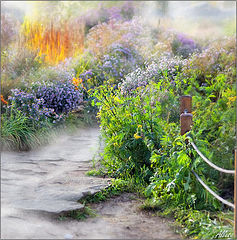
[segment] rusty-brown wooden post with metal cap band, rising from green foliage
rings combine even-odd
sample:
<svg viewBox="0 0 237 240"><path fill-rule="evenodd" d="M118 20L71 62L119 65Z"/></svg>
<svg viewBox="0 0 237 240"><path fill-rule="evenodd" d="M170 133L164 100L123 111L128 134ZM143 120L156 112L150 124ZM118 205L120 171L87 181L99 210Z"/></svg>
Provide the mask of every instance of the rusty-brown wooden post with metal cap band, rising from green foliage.
<svg viewBox="0 0 237 240"><path fill-rule="evenodd" d="M191 130L193 115L192 112L192 97L181 96L180 97L180 125L181 135Z"/></svg>

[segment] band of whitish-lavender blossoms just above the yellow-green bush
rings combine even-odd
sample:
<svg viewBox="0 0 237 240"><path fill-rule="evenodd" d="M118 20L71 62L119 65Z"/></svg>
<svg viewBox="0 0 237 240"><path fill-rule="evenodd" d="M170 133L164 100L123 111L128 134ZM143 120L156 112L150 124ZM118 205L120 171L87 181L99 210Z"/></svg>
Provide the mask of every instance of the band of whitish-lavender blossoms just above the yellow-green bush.
<svg viewBox="0 0 237 240"><path fill-rule="evenodd" d="M121 91L128 93L138 87L148 85L151 81L158 82L165 77L173 81L181 71L187 60L169 55L162 55L160 58L146 64L145 69L138 68L129 73L120 84Z"/></svg>

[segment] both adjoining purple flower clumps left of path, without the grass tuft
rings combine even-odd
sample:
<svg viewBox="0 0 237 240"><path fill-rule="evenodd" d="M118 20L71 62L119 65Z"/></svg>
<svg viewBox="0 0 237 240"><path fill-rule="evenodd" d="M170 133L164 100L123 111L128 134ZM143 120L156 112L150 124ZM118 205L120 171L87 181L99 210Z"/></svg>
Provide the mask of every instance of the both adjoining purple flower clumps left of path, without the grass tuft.
<svg viewBox="0 0 237 240"><path fill-rule="evenodd" d="M29 117L34 124L56 123L64 120L67 114L83 102L83 93L70 81L38 82L32 85L31 92L11 90L9 108L17 109Z"/></svg>

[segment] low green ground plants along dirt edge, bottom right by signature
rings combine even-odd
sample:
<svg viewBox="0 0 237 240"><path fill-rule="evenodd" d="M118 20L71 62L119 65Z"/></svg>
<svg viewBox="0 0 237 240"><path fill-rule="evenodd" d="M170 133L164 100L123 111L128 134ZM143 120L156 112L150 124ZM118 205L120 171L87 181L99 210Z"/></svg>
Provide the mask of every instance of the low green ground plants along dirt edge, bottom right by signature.
<svg viewBox="0 0 237 240"><path fill-rule="evenodd" d="M161 217L172 217L175 229L184 238L230 239L233 238L233 213L210 212L186 209L182 206L168 206L159 199L146 199L140 206L143 211L152 211Z"/></svg>

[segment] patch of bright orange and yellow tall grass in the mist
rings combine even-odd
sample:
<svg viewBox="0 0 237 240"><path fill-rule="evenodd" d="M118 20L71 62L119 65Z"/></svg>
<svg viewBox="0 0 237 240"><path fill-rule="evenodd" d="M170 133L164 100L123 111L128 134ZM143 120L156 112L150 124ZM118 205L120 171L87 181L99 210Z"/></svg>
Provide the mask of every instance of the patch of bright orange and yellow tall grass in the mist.
<svg viewBox="0 0 237 240"><path fill-rule="evenodd" d="M22 41L31 50L38 50L39 56L45 55L45 61L57 64L75 52L84 49L84 23L64 21L42 24L25 19L22 25Z"/></svg>

